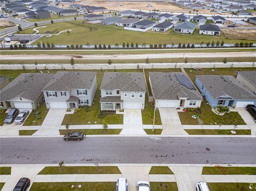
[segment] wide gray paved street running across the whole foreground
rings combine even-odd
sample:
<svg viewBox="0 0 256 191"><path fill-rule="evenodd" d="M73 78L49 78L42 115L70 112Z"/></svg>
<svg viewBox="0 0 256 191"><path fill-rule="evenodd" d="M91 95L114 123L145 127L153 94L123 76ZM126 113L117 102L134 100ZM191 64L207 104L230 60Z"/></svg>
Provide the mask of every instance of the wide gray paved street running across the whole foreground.
<svg viewBox="0 0 256 191"><path fill-rule="evenodd" d="M95 159L99 163L256 163L256 138L87 137L81 142L1 138L0 143L2 164L94 163Z"/></svg>

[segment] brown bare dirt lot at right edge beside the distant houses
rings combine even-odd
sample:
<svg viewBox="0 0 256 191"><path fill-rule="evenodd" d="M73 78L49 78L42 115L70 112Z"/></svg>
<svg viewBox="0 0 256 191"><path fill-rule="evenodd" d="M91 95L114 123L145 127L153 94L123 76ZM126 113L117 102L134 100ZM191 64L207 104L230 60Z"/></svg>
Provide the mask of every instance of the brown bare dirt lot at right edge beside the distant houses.
<svg viewBox="0 0 256 191"><path fill-rule="evenodd" d="M221 32L229 39L256 40L256 29L221 29Z"/></svg>

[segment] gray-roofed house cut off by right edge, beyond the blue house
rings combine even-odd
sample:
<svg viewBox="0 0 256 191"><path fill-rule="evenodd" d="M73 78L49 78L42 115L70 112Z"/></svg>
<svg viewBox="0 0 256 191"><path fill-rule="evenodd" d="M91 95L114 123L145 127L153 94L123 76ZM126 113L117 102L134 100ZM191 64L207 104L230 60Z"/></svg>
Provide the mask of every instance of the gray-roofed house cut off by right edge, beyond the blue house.
<svg viewBox="0 0 256 191"><path fill-rule="evenodd" d="M256 95L256 71L238 71L236 79Z"/></svg>

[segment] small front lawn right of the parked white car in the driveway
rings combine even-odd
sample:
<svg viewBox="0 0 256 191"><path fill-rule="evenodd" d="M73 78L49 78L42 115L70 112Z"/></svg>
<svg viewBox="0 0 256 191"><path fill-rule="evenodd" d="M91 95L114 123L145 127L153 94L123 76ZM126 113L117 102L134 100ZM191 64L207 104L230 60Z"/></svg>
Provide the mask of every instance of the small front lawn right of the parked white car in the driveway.
<svg viewBox="0 0 256 191"><path fill-rule="evenodd" d="M37 119L35 116L35 112L40 111L40 117L41 119ZM23 126L41 126L41 124L44 122L44 119L47 115L49 110L46 109L45 103L42 103L40 107L37 107L36 110L33 110L29 115L28 119L23 123Z"/></svg>

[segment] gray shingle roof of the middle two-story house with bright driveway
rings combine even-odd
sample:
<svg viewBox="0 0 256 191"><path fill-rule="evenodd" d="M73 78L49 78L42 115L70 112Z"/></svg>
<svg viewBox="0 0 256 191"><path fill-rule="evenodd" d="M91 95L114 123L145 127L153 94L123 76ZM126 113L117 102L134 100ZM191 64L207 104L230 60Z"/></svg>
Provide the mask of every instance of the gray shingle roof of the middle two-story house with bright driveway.
<svg viewBox="0 0 256 191"><path fill-rule="evenodd" d="M105 72L100 89L122 92L147 92L142 72Z"/></svg>

